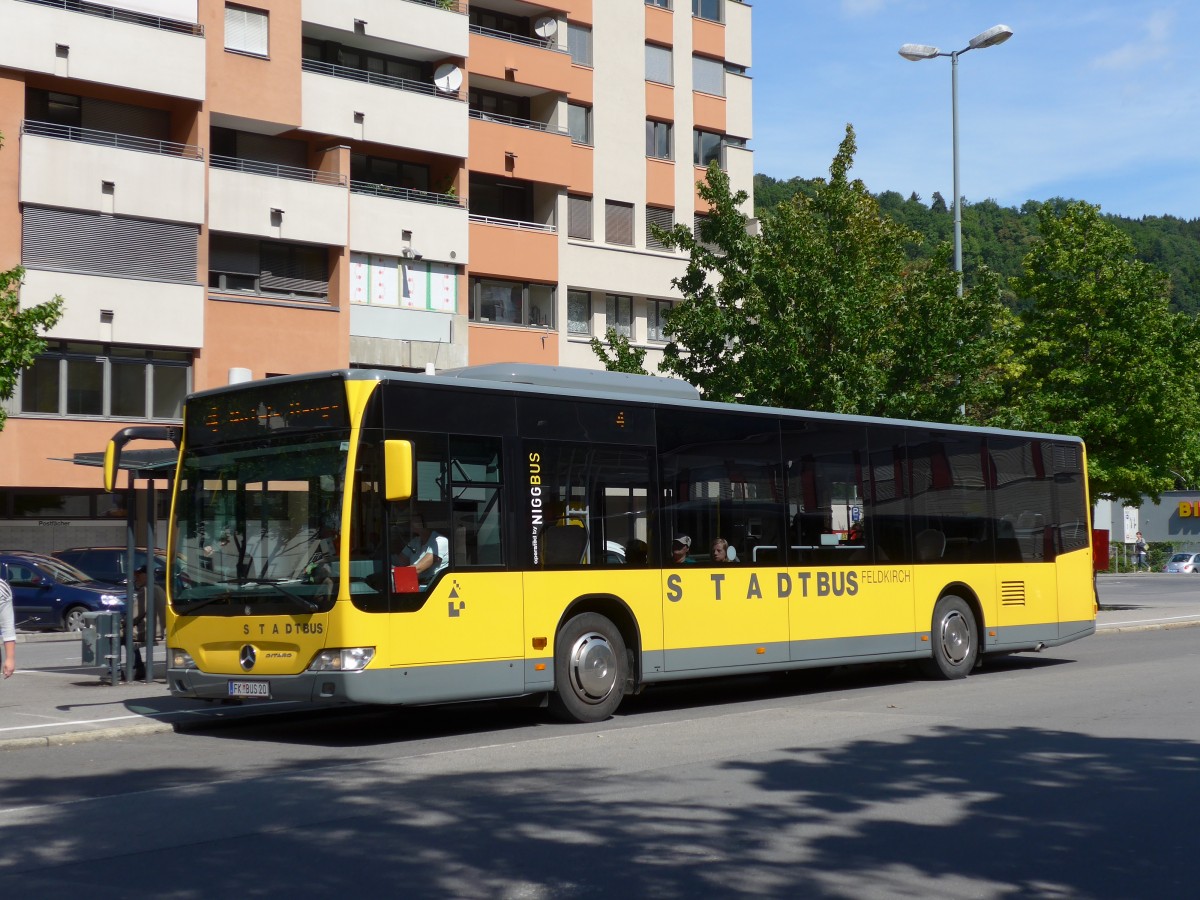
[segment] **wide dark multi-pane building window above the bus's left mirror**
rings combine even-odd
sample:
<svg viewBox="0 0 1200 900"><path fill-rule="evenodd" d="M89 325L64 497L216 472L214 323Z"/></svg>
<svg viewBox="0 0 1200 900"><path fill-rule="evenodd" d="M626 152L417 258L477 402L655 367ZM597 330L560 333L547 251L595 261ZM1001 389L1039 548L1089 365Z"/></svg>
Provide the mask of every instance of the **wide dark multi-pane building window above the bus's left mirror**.
<svg viewBox="0 0 1200 900"><path fill-rule="evenodd" d="M20 412L110 419L181 419L192 354L52 341L20 376Z"/></svg>

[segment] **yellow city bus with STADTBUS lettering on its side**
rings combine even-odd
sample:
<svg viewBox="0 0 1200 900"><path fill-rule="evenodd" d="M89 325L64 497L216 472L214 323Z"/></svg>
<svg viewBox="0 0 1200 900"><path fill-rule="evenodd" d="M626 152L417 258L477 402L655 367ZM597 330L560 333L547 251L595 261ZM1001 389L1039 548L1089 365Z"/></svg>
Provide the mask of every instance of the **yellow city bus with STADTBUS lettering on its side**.
<svg viewBox="0 0 1200 900"><path fill-rule="evenodd" d="M545 366L271 378L187 398L167 679L208 700L540 695L599 721L676 679L959 678L1093 634L1090 541L1072 437Z"/></svg>

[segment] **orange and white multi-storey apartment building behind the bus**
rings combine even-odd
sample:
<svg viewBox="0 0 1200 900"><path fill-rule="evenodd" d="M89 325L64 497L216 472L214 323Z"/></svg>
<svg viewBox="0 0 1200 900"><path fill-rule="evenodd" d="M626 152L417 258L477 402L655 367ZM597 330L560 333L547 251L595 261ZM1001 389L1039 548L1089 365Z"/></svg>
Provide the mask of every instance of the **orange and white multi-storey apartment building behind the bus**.
<svg viewBox="0 0 1200 900"><path fill-rule="evenodd" d="M752 188L750 13L0 0L0 269L65 299L6 407L0 545L114 540L65 460L230 378L598 367L608 326L656 366L684 263L650 224L694 223L710 160Z"/></svg>

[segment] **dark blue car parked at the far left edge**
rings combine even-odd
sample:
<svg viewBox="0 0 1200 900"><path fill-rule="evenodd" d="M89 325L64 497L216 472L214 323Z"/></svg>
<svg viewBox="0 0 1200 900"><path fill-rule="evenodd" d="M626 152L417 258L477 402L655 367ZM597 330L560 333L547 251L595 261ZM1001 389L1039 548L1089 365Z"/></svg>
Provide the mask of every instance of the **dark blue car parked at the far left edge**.
<svg viewBox="0 0 1200 900"><path fill-rule="evenodd" d="M92 581L54 557L0 552L0 576L12 588L18 628L79 631L85 612L125 611L119 589Z"/></svg>

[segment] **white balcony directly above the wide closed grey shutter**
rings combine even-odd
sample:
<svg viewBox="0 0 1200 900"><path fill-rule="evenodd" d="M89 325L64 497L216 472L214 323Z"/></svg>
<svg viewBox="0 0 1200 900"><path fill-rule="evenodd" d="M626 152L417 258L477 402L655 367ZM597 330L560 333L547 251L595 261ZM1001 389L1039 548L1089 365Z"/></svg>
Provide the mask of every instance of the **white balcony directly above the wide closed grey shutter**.
<svg viewBox="0 0 1200 900"><path fill-rule="evenodd" d="M25 121L19 197L41 206L198 224L203 160L191 144Z"/></svg>

